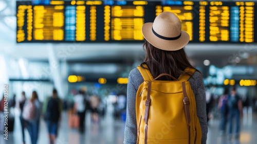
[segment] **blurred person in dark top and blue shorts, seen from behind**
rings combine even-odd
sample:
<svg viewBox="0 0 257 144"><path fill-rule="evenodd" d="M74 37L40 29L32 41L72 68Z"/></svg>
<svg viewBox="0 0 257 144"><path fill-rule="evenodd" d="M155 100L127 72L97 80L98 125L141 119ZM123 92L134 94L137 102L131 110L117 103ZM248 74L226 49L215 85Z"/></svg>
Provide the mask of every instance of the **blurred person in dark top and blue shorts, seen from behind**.
<svg viewBox="0 0 257 144"><path fill-rule="evenodd" d="M58 97L56 89L53 89L52 96L46 98L44 102L44 117L48 129L49 143L54 144L62 117L62 101Z"/></svg>

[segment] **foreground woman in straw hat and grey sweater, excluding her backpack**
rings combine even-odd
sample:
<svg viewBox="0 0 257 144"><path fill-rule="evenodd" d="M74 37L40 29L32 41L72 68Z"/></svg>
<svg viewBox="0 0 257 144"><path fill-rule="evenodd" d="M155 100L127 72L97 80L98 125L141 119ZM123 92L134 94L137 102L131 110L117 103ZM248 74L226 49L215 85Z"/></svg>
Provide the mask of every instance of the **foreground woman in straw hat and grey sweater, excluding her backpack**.
<svg viewBox="0 0 257 144"><path fill-rule="evenodd" d="M146 64L154 78L167 73L178 79L186 67L193 66L189 63L184 47L189 42L187 32L181 30L178 17L171 12L162 12L154 23L145 23L142 33L146 39L144 43L146 56L142 64ZM142 64L140 65L141 67ZM170 77L161 77L159 80L172 80ZM127 83L127 110L125 123L125 144L137 142L136 121L136 94L138 87L144 79L137 68L133 69L128 76ZM197 117L200 122L202 138L205 144L207 139L207 115L205 85L203 77L198 70L189 79L196 101Z"/></svg>

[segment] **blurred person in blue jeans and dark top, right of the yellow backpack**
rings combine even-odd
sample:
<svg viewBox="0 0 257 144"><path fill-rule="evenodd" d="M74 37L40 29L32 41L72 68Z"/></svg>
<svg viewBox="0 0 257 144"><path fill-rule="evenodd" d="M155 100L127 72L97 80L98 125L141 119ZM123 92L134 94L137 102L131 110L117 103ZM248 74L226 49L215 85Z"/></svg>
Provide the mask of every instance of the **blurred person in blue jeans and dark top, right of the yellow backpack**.
<svg viewBox="0 0 257 144"><path fill-rule="evenodd" d="M243 117L243 106L241 98L236 94L236 88L233 87L230 95L228 95L229 107L229 135L232 138L233 119L235 119L235 138L239 137L240 117Z"/></svg>

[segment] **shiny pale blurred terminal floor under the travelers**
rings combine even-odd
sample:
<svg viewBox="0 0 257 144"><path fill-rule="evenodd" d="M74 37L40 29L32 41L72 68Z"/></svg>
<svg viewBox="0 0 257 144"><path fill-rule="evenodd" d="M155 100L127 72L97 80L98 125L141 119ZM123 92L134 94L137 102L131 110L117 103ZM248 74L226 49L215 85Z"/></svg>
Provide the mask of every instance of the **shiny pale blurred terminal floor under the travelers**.
<svg viewBox="0 0 257 144"><path fill-rule="evenodd" d="M30 144L28 131L25 131L26 143ZM67 115L63 115L59 136L56 144L122 144L124 138L124 122L113 120L112 117L101 119L99 125L90 121L90 114L86 115L86 132L79 134L75 129L68 128ZM22 132L19 117L15 117L14 132L9 133L8 140L0 136L1 144L22 144ZM38 144L48 144L47 129L44 120L41 120ZM218 121L210 120L207 144L237 144L257 143L257 116L252 120L241 121L240 138L228 140L227 135L220 136Z"/></svg>

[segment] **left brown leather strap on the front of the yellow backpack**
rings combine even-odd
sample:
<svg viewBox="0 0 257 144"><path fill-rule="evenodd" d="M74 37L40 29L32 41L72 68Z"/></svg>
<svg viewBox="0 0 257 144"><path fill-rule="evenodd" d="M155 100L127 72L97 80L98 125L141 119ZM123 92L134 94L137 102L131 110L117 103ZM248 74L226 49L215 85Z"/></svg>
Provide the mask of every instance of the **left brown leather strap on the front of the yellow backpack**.
<svg viewBox="0 0 257 144"><path fill-rule="evenodd" d="M152 81L149 81L148 89L147 89L147 98L145 100L145 110L144 110L144 122L145 122L144 144L147 144L147 139L148 139L147 130L148 130L148 117L149 117L150 104L151 104L151 99L150 99L151 86L152 86Z"/></svg>

